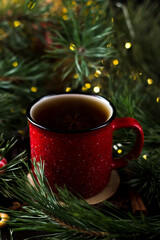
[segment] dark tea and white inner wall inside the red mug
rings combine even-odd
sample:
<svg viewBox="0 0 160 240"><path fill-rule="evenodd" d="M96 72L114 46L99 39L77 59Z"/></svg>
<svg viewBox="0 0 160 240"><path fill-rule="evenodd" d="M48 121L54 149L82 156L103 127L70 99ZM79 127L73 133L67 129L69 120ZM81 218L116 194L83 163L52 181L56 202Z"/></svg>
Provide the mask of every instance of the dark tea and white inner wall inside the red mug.
<svg viewBox="0 0 160 240"><path fill-rule="evenodd" d="M45 97L31 108L31 117L36 123L60 132L98 127L110 115L109 108L102 100L79 94Z"/></svg>

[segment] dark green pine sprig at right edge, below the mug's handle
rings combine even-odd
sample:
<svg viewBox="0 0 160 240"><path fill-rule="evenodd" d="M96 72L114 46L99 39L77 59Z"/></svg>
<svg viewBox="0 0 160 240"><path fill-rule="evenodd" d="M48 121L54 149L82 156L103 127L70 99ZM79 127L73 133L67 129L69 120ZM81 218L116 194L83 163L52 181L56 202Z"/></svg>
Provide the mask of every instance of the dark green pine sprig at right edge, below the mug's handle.
<svg viewBox="0 0 160 240"><path fill-rule="evenodd" d="M127 171L131 176L129 184L140 192L147 206L160 208L160 152L150 152L145 158L129 162Z"/></svg>

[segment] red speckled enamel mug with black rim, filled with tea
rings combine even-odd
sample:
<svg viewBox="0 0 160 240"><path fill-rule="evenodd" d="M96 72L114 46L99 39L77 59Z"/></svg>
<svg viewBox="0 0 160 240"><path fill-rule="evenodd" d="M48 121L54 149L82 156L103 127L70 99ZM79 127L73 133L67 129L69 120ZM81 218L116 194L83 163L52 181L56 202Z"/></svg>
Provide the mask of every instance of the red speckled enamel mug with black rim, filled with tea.
<svg viewBox="0 0 160 240"><path fill-rule="evenodd" d="M78 106L76 102L84 104L82 109L87 108L85 114L88 115L90 115L88 102L92 102L93 110L98 104L94 116L99 116L96 111L102 107L106 119L103 121L100 119L100 122L93 123L93 126L87 125L82 129L65 129L65 126L61 129L61 124L56 128L54 119L67 104L68 99L71 99L71 105L74 103ZM51 118L52 103L59 100L63 100L63 107L59 105L59 110L54 110L53 119L48 127L45 121ZM49 110L48 115L44 114L45 109ZM92 197L107 185L113 169L125 167L128 160L139 156L144 141L142 127L134 118L115 118L115 115L114 105L97 95L74 93L48 95L36 99L28 106L31 159L36 159L36 162L40 159L44 161L45 175L53 192L57 192L56 186L65 185L70 191L77 192L84 198ZM44 119L41 122L42 118ZM60 121L61 119L58 120ZM74 123L76 121L75 118ZM113 132L120 128L134 129L137 138L133 149L127 155L114 159Z"/></svg>

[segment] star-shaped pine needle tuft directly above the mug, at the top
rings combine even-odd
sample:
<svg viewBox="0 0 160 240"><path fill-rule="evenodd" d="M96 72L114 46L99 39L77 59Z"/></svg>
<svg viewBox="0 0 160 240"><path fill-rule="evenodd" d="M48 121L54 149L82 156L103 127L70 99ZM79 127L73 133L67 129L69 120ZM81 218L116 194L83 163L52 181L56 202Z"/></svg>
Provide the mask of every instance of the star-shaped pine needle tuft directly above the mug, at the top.
<svg viewBox="0 0 160 240"><path fill-rule="evenodd" d="M107 44L113 41L113 30L101 2L87 5L80 1L73 6L72 1L63 1L63 4L67 13L58 18L58 30L51 29L52 44L47 56L58 59L54 70L59 74L60 69L61 80L69 77L70 84L77 88L96 72L103 58L113 56L113 49L107 49Z"/></svg>

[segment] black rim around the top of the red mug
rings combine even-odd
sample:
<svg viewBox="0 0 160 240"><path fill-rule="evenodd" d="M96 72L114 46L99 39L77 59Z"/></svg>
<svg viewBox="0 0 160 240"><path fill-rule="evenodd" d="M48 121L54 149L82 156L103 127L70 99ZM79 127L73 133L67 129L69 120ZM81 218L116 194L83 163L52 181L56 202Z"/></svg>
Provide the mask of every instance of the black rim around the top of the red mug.
<svg viewBox="0 0 160 240"><path fill-rule="evenodd" d="M42 126L41 124L37 123L32 117L31 117L31 114L30 114L30 111L31 111L31 108L37 103L39 102L41 99L43 98L46 98L46 97L51 97L51 96L58 96L58 95L72 95L72 94L75 94L75 95L85 95L85 96L92 96L92 97L97 97L97 98L100 98L100 99L103 99L105 101L107 101L113 112L112 112L112 115L111 117L106 120L105 122L99 124L98 126L96 127L93 127L93 128L89 128L89 129L84 129L84 130L63 130L63 131L60 131L60 130L56 130L56 129L53 129L53 128L47 128L47 127L44 127ZM73 133L83 133L83 132L91 132L91 131L95 131L95 130L98 130L98 129L101 129L105 126L107 126L108 124L110 124L116 117L116 108L115 106L113 105L113 103L108 100L107 98L104 98L100 95L97 95L97 94L86 94L86 93L58 93L58 94L46 94L46 95L43 95L39 98L36 98L35 100L33 100L28 106L27 106L27 109L26 109L26 117L28 119L28 121L30 123L32 123L34 126L40 128L40 129L43 129L43 130L46 130L46 131L49 131L49 132L53 132L53 133L64 133L64 134L73 134Z"/></svg>

